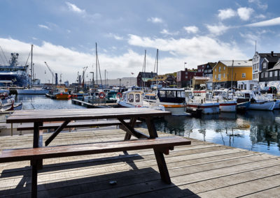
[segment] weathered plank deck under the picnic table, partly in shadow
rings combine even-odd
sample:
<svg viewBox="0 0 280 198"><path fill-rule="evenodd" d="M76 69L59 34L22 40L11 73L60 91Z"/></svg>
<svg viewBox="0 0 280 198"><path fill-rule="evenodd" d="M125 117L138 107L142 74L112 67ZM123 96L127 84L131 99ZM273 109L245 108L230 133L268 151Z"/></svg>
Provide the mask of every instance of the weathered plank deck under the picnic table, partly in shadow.
<svg viewBox="0 0 280 198"><path fill-rule="evenodd" d="M49 136L44 134L44 141ZM120 140L125 132L63 132L50 145L109 137ZM31 135L0 137L0 149L32 147L32 140ZM274 155L192 139L192 145L176 146L165 156L172 179L167 185L160 180L153 150L128 153L44 160L38 197L279 197L280 158ZM0 172L0 197L30 197L29 162L0 164Z"/></svg>

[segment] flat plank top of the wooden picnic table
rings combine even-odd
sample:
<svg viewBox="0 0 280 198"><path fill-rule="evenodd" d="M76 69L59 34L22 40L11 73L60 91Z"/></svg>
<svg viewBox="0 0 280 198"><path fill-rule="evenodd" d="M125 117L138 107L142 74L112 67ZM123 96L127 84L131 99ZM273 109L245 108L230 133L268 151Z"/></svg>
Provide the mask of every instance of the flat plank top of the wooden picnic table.
<svg viewBox="0 0 280 198"><path fill-rule="evenodd" d="M8 117L6 123L117 119L167 115L171 115L171 112L163 112L149 108L41 109L15 111L11 116Z"/></svg>

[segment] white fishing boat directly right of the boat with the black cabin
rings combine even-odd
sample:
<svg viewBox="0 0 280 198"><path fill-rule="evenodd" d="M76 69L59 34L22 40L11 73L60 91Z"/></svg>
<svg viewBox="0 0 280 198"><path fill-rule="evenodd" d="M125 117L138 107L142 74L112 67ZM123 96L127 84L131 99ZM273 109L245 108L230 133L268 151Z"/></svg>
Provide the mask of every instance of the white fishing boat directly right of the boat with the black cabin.
<svg viewBox="0 0 280 198"><path fill-rule="evenodd" d="M207 91L186 90L186 112L197 114L218 114L219 103L212 100L212 94Z"/></svg>

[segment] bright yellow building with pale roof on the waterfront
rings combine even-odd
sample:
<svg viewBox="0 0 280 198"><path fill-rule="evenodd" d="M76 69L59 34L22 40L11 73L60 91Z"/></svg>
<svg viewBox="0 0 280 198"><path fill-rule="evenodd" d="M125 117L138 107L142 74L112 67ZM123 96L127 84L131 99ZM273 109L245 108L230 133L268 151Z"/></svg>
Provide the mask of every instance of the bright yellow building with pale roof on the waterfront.
<svg viewBox="0 0 280 198"><path fill-rule="evenodd" d="M237 87L237 81L252 79L252 61L218 61L213 68L214 88Z"/></svg>

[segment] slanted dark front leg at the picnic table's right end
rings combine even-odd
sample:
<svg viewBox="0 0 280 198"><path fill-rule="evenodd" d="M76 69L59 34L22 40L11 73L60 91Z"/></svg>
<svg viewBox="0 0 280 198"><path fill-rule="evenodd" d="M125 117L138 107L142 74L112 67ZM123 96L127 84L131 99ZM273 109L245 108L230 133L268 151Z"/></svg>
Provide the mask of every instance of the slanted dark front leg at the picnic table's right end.
<svg viewBox="0 0 280 198"><path fill-rule="evenodd" d="M150 118L146 118L146 124L148 127L150 138L152 139L158 137L158 132L155 129L155 124ZM165 181L165 183L170 184L171 180L170 180L169 172L167 169L167 165L163 153L155 150L155 148L153 149L153 151L155 153L155 159L157 160L158 163L158 169L160 170L160 177L162 178L162 181Z"/></svg>

